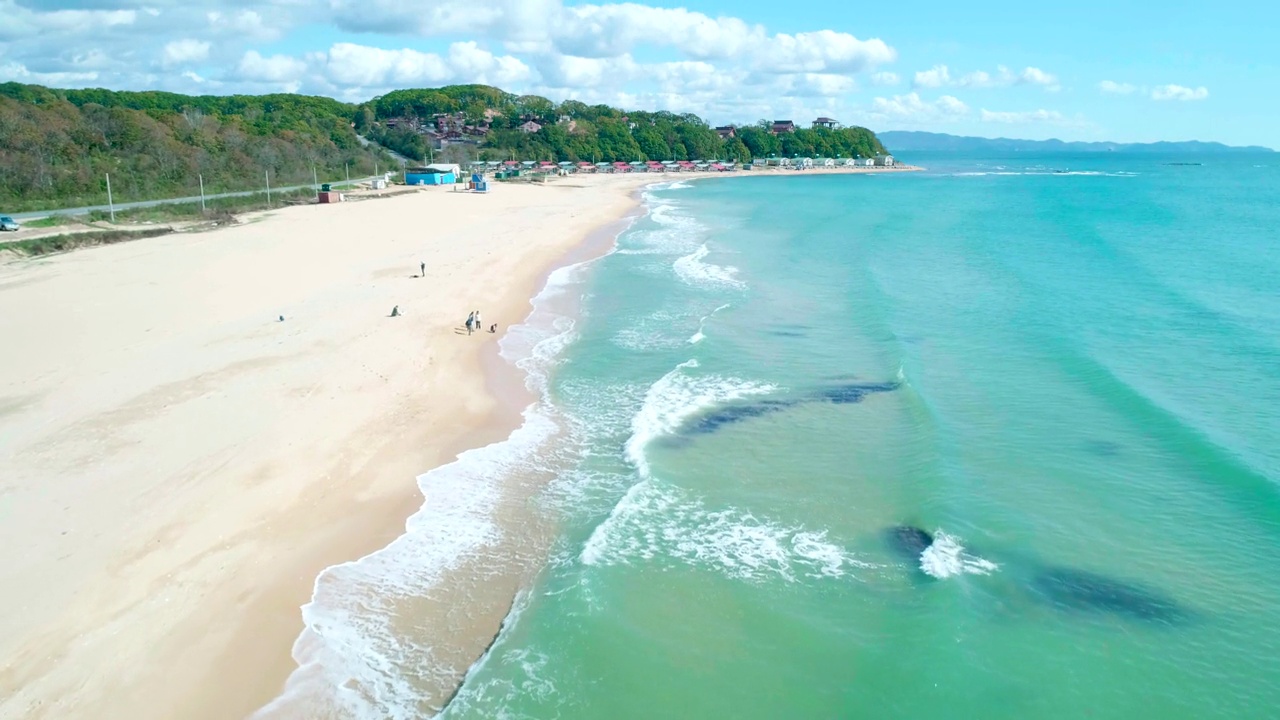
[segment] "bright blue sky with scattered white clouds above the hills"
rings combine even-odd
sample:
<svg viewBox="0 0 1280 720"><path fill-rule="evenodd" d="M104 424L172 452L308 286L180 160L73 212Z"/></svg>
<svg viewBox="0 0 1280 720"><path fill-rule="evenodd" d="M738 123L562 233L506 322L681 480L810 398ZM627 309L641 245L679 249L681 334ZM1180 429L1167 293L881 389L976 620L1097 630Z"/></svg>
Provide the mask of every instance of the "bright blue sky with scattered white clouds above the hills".
<svg viewBox="0 0 1280 720"><path fill-rule="evenodd" d="M0 81L343 100L485 82L717 124L1280 147L1277 8L0 0Z"/></svg>

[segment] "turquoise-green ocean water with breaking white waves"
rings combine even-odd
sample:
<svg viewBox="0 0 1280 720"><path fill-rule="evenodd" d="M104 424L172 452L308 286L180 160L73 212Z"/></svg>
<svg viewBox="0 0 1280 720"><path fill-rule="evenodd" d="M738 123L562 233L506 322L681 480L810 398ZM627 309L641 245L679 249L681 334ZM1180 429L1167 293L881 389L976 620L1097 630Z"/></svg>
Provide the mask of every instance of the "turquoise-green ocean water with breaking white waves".
<svg viewBox="0 0 1280 720"><path fill-rule="evenodd" d="M526 425L317 582L291 688L434 711L388 607L527 532L443 717L1274 716L1280 160L909 160L650 190L504 341Z"/></svg>

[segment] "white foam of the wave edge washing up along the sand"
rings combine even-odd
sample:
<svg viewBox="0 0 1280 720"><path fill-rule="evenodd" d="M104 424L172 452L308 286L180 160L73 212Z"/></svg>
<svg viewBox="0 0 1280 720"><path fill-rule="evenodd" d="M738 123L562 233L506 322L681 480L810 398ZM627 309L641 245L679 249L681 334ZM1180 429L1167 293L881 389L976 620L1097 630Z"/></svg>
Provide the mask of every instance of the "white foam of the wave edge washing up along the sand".
<svg viewBox="0 0 1280 720"><path fill-rule="evenodd" d="M603 258L603 256L602 256ZM540 448L561 432L547 397L550 369L577 337L571 318L548 307L581 282L594 258L552 272L532 310L511 327L499 354L525 373L539 400L506 439L462 452L453 462L417 478L422 506L404 533L360 560L326 568L302 607L303 632L293 644L298 667L284 692L255 719L342 716L411 720L420 716L419 679L447 678L420 638L404 637L398 603L422 597L451 570L502 537L493 511L502 483L513 470L536 466Z"/></svg>

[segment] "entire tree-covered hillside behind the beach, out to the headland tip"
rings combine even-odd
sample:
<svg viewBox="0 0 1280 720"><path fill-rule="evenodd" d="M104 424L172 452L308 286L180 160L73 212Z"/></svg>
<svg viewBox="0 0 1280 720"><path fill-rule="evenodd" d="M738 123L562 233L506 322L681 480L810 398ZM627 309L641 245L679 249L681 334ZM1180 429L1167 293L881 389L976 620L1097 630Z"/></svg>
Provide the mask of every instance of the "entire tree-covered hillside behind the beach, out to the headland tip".
<svg viewBox="0 0 1280 720"><path fill-rule="evenodd" d="M772 135L760 120L721 140L694 114L553 102L483 85L398 90L358 105L306 95L188 96L0 83L0 211L20 213L365 177L390 161L435 156L416 128L449 114L484 133L449 160L740 160L854 158L884 149L865 128ZM389 123L388 120L397 120ZM406 122L408 120L408 122ZM540 127L525 132L529 120ZM390 127L396 124L397 127ZM376 165L375 165L376 164ZM314 170L312 170L314 169Z"/></svg>

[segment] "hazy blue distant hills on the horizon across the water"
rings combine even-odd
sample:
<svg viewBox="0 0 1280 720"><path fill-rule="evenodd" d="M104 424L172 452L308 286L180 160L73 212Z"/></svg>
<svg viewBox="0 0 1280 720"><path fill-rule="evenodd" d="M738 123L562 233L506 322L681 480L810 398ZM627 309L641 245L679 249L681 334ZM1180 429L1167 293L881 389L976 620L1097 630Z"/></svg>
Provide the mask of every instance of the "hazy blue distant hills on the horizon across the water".
<svg viewBox="0 0 1280 720"><path fill-rule="evenodd" d="M1064 142L1061 140L1010 140L961 137L940 132L887 131L876 133L893 152L1274 152L1270 147L1238 147L1221 142Z"/></svg>

